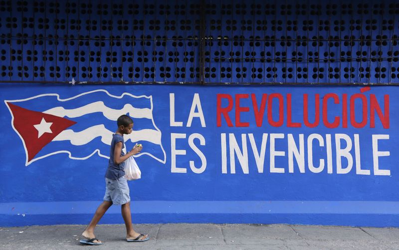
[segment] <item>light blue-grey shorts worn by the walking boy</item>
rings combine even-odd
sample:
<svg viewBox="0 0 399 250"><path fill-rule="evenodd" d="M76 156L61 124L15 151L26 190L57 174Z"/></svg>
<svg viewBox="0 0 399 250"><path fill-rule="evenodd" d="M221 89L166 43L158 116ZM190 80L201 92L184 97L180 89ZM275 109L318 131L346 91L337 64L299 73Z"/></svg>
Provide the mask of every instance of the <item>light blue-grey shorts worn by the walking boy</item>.
<svg viewBox="0 0 399 250"><path fill-rule="evenodd" d="M125 177L116 180L105 178L104 201L112 202L114 205L123 205L130 202L130 190Z"/></svg>

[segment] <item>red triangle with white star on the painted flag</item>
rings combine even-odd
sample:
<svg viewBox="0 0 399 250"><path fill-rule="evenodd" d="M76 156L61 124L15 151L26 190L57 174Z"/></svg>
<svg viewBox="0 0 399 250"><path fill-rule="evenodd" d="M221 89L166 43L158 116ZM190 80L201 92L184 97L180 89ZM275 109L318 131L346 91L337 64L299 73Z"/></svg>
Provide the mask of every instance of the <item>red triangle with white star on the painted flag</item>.
<svg viewBox="0 0 399 250"><path fill-rule="evenodd" d="M14 129L23 141L27 162L59 133L76 123L63 117L21 108L10 102L7 105L13 117Z"/></svg>

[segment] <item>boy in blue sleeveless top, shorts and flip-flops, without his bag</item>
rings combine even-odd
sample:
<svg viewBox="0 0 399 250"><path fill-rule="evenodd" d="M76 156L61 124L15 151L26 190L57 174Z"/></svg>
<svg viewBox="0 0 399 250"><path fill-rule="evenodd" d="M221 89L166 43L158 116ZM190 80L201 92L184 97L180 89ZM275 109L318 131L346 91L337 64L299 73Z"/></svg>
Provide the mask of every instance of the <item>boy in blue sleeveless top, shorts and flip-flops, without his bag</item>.
<svg viewBox="0 0 399 250"><path fill-rule="evenodd" d="M122 205L121 212L126 225L126 241L128 242L145 242L150 238L148 235L139 234L134 231L132 226L132 215L130 213L130 195L129 186L125 179L125 163L124 161L130 156L139 153L143 147L136 145L126 154L123 152L125 143L124 134L130 134L133 130L133 120L127 115L121 115L117 121L118 130L113 134L111 142L110 158L108 169L105 174L105 196L104 202L97 208L90 224L87 226L82 236L87 240L81 240L80 243L86 245L102 245L103 243L94 236L94 228L105 212L114 205Z"/></svg>

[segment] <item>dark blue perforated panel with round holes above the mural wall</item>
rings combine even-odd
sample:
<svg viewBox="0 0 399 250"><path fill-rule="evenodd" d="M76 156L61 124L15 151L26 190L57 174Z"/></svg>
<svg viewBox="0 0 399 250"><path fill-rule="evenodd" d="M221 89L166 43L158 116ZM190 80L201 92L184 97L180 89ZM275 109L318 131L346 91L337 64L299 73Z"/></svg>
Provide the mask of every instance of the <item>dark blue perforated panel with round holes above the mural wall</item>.
<svg viewBox="0 0 399 250"><path fill-rule="evenodd" d="M0 1L0 81L399 83L397 1Z"/></svg>

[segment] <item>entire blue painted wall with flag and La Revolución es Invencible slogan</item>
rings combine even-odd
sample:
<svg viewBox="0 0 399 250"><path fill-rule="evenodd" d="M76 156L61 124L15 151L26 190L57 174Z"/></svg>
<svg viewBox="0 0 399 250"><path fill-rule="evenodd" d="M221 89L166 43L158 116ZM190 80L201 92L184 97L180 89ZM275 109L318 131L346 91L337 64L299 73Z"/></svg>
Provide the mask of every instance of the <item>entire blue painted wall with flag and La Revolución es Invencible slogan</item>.
<svg viewBox="0 0 399 250"><path fill-rule="evenodd" d="M143 144L135 223L399 226L398 93L1 84L0 226L86 224L122 114Z"/></svg>

